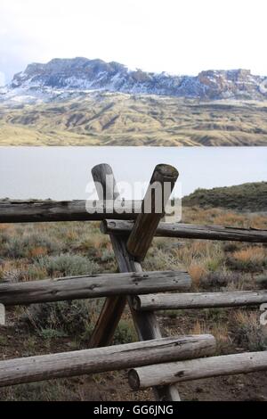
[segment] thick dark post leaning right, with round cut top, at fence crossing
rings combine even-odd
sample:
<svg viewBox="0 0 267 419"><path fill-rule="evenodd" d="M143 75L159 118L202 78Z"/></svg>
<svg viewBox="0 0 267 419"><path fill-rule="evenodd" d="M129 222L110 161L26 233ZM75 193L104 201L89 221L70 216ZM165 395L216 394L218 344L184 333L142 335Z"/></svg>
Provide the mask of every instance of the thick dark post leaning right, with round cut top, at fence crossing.
<svg viewBox="0 0 267 419"><path fill-rule="evenodd" d="M127 251L134 259L145 258L177 178L176 168L166 164L156 166L142 201L142 214L136 218L127 242Z"/></svg>

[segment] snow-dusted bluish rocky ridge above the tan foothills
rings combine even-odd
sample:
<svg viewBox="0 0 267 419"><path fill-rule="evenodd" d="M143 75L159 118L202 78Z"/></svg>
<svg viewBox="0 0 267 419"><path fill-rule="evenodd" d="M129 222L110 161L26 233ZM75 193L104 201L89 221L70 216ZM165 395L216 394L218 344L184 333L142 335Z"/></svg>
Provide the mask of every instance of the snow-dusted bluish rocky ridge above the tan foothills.
<svg viewBox="0 0 267 419"><path fill-rule="evenodd" d="M86 58L53 59L29 64L0 90L0 100L49 102L55 98L104 90L126 94L157 94L218 99L267 99L267 78L250 70L208 70L196 77L129 70L117 62Z"/></svg>

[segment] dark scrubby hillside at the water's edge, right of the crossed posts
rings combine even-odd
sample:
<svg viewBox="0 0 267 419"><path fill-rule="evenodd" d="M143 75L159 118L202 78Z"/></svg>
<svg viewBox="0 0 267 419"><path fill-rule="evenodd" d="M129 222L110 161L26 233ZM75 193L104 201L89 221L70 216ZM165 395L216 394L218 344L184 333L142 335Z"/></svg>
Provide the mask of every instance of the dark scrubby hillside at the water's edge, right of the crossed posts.
<svg viewBox="0 0 267 419"><path fill-rule="evenodd" d="M267 182L213 189L197 189L182 198L185 207L214 207L241 211L267 211Z"/></svg>

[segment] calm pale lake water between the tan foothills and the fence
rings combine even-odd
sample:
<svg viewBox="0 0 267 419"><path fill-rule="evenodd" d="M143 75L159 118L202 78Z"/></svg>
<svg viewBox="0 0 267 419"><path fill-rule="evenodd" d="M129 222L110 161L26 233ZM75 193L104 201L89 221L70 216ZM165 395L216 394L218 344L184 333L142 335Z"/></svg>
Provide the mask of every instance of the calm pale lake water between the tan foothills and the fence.
<svg viewBox="0 0 267 419"><path fill-rule="evenodd" d="M149 181L158 163L172 164L182 195L267 181L267 147L0 147L0 198L85 199L91 168L104 162L117 182L131 183Z"/></svg>

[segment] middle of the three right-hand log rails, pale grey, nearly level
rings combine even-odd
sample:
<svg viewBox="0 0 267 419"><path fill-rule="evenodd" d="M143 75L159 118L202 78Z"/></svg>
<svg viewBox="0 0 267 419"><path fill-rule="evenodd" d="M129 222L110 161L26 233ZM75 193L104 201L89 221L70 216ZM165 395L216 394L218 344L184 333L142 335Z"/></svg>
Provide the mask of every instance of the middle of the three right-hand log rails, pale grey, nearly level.
<svg viewBox="0 0 267 419"><path fill-rule="evenodd" d="M134 297L134 308L140 311L182 308L220 308L255 306L267 302L267 290L237 292L190 292L148 294Z"/></svg>

